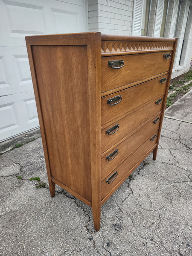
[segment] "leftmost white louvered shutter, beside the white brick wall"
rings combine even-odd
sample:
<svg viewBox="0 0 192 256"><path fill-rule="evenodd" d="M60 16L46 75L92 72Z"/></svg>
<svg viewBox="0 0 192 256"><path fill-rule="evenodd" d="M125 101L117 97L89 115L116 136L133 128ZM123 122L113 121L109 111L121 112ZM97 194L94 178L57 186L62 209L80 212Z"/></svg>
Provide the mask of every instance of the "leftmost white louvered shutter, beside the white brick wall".
<svg viewBox="0 0 192 256"><path fill-rule="evenodd" d="M134 1L132 35L141 35L143 0Z"/></svg>

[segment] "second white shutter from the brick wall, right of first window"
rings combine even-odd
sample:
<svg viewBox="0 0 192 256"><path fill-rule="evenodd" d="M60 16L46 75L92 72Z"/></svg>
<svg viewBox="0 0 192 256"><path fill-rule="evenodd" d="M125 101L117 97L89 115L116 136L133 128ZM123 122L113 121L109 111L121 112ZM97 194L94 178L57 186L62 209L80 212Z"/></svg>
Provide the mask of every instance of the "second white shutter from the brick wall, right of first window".
<svg viewBox="0 0 192 256"><path fill-rule="evenodd" d="M164 0L158 0L156 16L155 16L155 23L154 23L154 37L160 36L161 22L162 22L162 17L163 17L163 7L164 7Z"/></svg>

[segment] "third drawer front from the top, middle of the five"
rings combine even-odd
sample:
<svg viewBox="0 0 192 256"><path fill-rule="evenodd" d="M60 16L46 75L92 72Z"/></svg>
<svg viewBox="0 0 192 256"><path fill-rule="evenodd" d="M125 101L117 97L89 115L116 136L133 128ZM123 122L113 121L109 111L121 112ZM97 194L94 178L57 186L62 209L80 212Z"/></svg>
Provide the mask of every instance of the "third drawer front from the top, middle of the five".
<svg viewBox="0 0 192 256"><path fill-rule="evenodd" d="M157 115L157 113L159 113L162 109L162 104L155 104L155 101L158 99L159 98L153 100L143 108L137 109L128 116L125 116L116 122L113 122L107 126L105 125L105 128L102 128L101 132L102 153L108 148L112 147L114 144L118 143L119 140L122 140L125 136L139 128L152 116Z"/></svg>

